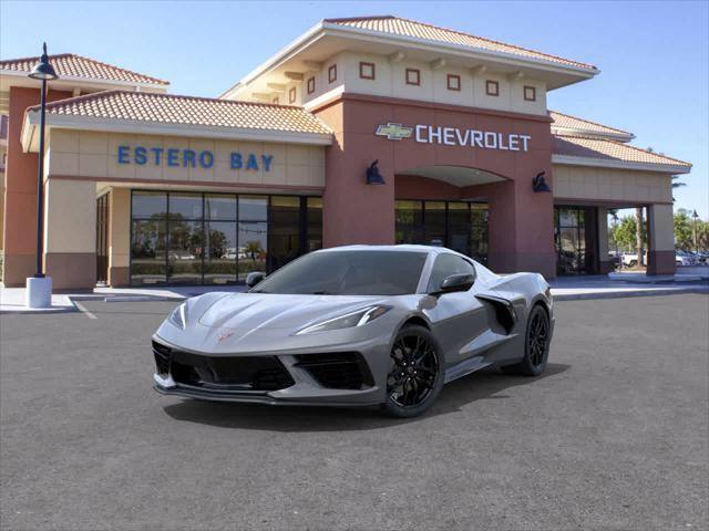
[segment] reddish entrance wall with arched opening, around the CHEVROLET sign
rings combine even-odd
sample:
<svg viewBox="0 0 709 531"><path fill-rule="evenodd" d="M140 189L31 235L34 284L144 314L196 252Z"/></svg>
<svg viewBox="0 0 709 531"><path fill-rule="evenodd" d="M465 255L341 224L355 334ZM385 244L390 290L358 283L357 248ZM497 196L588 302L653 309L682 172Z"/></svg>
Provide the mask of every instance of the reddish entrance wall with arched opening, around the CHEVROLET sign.
<svg viewBox="0 0 709 531"><path fill-rule="evenodd" d="M315 113L333 129L336 139L327 154L326 247L393 243L395 197L484 197L490 204L491 268L555 275L553 197L532 191L532 178L540 171L545 171L547 184L554 186L548 118L347 94ZM376 136L377 126L388 122L527 134L532 139L527 152L508 152ZM366 184L366 169L374 159L379 159L384 186ZM401 171L434 165L482 169L505 181L456 188L423 177L397 177Z"/></svg>

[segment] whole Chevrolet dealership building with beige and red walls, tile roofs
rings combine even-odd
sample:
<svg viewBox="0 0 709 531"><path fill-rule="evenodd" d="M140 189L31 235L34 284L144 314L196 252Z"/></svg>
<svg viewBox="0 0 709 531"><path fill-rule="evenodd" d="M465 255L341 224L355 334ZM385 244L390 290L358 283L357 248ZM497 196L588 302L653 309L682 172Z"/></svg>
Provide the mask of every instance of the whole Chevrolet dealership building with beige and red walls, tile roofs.
<svg viewBox="0 0 709 531"><path fill-rule="evenodd" d="M37 61L0 61L6 285L34 273ZM646 212L648 273L675 270L671 177L691 165L547 108L548 91L599 73L590 64L394 17L323 20L217 98L50 61L43 259L56 289L236 283L348 243L604 273L608 211L631 207Z"/></svg>

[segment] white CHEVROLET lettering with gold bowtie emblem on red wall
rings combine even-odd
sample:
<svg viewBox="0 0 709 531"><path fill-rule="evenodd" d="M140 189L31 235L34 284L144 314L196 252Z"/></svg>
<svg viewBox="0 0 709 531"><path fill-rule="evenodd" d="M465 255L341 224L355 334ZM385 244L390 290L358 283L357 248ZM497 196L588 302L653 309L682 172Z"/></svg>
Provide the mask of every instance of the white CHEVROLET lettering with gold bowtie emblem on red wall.
<svg viewBox="0 0 709 531"><path fill-rule="evenodd" d="M494 131L461 129L459 127L441 127L418 124L409 127L402 124L380 124L374 133L390 140L414 139L421 144L442 144L445 146L477 147L481 149L500 149L504 152L527 152L531 135L505 134Z"/></svg>

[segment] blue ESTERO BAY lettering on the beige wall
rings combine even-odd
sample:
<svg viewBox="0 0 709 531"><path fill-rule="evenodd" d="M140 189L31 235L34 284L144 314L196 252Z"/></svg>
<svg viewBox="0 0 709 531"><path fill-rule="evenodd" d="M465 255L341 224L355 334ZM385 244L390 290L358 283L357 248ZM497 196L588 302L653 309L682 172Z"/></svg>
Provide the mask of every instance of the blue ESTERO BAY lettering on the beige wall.
<svg viewBox="0 0 709 531"><path fill-rule="evenodd" d="M137 164L138 166L165 164L173 167L205 169L214 166L214 153L209 149L197 152L182 148L119 146L116 155L119 164ZM239 152L229 154L232 169L270 171L273 160L273 155L242 154Z"/></svg>

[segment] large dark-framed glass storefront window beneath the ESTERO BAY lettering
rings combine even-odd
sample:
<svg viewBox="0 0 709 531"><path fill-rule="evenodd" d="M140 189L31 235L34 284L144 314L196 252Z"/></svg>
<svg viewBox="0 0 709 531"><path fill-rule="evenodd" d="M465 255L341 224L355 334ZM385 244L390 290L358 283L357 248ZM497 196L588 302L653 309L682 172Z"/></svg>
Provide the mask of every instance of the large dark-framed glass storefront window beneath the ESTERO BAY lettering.
<svg viewBox="0 0 709 531"><path fill-rule="evenodd" d="M132 284L234 283L322 247L321 198L134 190L131 208Z"/></svg>

